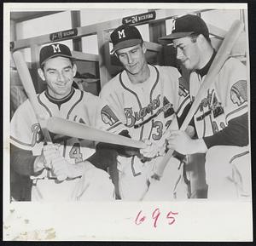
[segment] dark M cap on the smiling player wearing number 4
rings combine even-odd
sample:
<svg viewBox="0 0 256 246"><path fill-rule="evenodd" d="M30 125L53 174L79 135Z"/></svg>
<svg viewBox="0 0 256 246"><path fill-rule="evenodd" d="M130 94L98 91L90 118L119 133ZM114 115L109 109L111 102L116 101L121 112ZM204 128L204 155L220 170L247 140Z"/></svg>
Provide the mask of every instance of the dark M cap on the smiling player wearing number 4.
<svg viewBox="0 0 256 246"><path fill-rule="evenodd" d="M50 58L53 58L55 56L64 56L67 58L74 59L67 45L62 43L52 43L47 46L44 46L40 50L40 54L39 54L40 66L42 66L46 60L49 60Z"/></svg>

